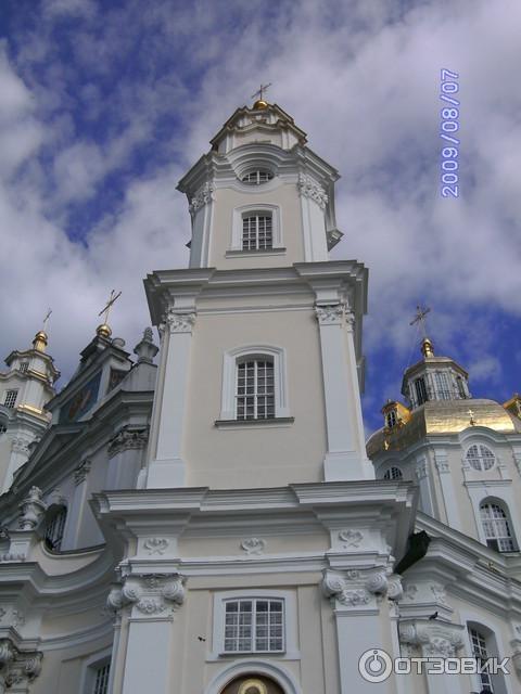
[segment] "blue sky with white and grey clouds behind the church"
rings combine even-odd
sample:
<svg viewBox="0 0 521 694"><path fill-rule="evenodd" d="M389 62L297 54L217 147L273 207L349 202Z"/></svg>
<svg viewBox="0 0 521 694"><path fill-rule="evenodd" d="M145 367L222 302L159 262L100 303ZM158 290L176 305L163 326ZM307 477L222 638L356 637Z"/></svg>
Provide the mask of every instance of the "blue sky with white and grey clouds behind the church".
<svg viewBox="0 0 521 694"><path fill-rule="evenodd" d="M521 390L519 0L2 0L0 351L48 307L66 382L112 288L138 342L141 279L183 267L181 175L260 81L342 174L334 256L369 267L366 425L439 354L474 396ZM441 196L440 70L458 74L459 197Z"/></svg>

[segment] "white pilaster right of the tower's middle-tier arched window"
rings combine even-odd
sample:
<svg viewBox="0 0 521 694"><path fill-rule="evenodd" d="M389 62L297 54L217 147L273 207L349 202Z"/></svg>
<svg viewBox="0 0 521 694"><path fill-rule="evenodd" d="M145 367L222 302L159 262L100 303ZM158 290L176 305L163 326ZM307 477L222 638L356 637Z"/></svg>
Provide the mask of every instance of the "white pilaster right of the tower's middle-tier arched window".
<svg viewBox="0 0 521 694"><path fill-rule="evenodd" d="M328 451L325 480L374 479L366 455L353 340L354 316L343 304L317 306Z"/></svg>

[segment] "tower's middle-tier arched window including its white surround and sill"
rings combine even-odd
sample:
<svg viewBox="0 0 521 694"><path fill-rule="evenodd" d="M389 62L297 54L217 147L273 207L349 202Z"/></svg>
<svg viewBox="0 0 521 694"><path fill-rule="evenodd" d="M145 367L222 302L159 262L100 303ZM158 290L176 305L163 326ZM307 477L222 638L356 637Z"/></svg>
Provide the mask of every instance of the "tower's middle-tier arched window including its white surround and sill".
<svg viewBox="0 0 521 694"><path fill-rule="evenodd" d="M251 345L226 351L223 364L220 419L238 421L289 420L285 350Z"/></svg>

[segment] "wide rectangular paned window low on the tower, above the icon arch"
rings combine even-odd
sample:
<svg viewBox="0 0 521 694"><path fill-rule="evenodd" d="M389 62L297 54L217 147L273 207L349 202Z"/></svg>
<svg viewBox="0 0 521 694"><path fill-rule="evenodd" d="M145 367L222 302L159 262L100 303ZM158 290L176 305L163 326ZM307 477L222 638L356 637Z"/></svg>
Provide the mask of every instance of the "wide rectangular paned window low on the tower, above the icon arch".
<svg viewBox="0 0 521 694"><path fill-rule="evenodd" d="M228 600L225 603L225 653L282 653L284 601Z"/></svg>

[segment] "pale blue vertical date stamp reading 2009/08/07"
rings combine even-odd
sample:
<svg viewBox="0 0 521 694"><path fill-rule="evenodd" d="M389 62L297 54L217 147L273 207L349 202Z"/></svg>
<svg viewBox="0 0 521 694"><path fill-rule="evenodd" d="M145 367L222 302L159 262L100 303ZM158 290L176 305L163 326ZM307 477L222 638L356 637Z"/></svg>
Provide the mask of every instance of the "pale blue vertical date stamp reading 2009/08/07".
<svg viewBox="0 0 521 694"><path fill-rule="evenodd" d="M440 99L445 102L444 107L441 111L442 115L442 132L440 137L449 142L450 145L445 145L442 149L442 197L458 197L459 196L459 138L455 137L455 133L459 130L459 100L455 99L454 94L459 91L459 83L457 79L459 75L452 73L445 67L441 70L441 91Z"/></svg>

